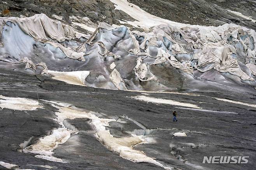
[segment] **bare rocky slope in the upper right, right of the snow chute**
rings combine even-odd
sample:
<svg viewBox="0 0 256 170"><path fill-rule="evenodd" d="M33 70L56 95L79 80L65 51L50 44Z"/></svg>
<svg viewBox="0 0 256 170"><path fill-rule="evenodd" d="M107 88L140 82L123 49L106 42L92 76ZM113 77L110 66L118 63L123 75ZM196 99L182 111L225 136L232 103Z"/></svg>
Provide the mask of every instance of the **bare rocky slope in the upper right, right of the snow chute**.
<svg viewBox="0 0 256 170"><path fill-rule="evenodd" d="M256 2L247 0L130 0L155 16L195 25L219 26L235 23L256 29L256 23L228 12L241 12L245 16L256 16Z"/></svg>

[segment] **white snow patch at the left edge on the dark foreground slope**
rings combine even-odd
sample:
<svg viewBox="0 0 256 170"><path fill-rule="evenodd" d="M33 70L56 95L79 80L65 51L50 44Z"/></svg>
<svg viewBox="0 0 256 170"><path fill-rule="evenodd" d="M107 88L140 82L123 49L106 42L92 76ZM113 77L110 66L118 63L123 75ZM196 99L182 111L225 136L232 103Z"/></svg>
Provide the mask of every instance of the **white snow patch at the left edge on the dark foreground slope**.
<svg viewBox="0 0 256 170"><path fill-rule="evenodd" d="M38 101L21 97L5 97L0 95L0 108L14 110L35 110L39 107Z"/></svg>

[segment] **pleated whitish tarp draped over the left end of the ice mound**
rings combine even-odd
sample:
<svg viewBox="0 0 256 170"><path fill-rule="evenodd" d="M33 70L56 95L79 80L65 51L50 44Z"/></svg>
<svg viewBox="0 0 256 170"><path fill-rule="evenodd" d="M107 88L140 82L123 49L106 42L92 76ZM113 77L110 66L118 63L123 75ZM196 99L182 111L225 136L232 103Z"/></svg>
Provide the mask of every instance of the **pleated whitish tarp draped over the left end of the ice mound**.
<svg viewBox="0 0 256 170"><path fill-rule="evenodd" d="M8 21L18 24L19 27L33 39L42 43L49 43L54 47L59 47L67 57L85 61L83 57L85 55L84 52L76 52L75 49L64 47L60 44L60 42L65 40L81 38L81 36L86 37L86 35L75 31L74 28L60 21L50 19L45 14L36 14L32 17L23 18L2 17L0 19L0 27L3 28ZM1 45L3 45L2 41Z"/></svg>

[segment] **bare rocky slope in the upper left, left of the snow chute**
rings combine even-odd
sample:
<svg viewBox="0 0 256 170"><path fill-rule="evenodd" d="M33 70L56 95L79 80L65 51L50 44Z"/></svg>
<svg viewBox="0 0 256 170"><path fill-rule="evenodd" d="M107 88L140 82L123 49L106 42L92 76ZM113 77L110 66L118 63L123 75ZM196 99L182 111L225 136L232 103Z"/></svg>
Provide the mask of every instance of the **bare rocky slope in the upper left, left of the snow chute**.
<svg viewBox="0 0 256 170"><path fill-rule="evenodd" d="M5 3L6 2L6 3ZM7 0L0 2L0 10L8 9L11 16L33 16L44 13L49 17L57 15L70 24L70 16L88 17L93 23L106 22L118 24L121 19L133 21L125 12L115 10L114 4L109 0ZM9 16L9 14L2 16Z"/></svg>

